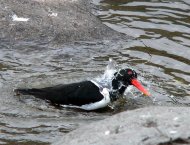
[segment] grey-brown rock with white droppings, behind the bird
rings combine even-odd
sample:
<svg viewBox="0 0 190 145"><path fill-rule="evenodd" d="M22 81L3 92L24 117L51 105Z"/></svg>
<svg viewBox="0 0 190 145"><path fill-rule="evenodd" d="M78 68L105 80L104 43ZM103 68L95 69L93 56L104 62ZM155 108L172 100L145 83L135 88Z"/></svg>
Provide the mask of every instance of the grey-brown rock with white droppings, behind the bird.
<svg viewBox="0 0 190 145"><path fill-rule="evenodd" d="M1 0L0 38L65 43L128 37L103 25L89 0Z"/></svg>

